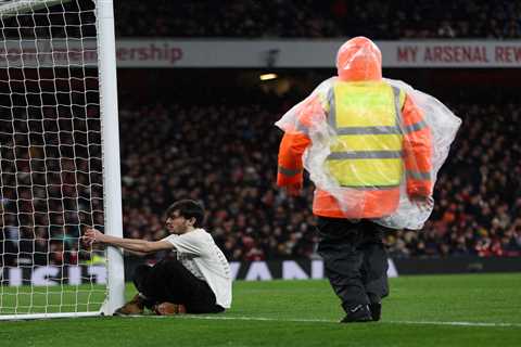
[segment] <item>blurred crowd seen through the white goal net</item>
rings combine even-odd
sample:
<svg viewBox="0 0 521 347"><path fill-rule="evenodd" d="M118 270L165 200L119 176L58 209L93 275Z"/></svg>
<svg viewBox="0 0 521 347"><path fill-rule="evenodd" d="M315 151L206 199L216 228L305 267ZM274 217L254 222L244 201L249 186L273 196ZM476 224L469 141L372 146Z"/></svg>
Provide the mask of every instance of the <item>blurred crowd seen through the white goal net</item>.
<svg viewBox="0 0 521 347"><path fill-rule="evenodd" d="M78 264L81 226L104 224L99 112L21 95L2 99L0 265Z"/></svg>

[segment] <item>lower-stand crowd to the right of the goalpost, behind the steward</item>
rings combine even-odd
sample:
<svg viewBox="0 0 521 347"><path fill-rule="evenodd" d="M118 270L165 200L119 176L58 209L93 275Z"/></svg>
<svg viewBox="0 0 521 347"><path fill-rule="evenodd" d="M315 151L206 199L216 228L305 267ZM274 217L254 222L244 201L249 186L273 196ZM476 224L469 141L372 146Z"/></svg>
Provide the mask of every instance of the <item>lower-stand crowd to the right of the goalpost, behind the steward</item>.
<svg viewBox="0 0 521 347"><path fill-rule="evenodd" d="M394 257L521 255L520 105L458 104L463 117L421 232L386 237ZM233 260L314 257L313 189L274 185L282 110L265 105L150 105L122 111L125 231L163 236L158 211L201 200L206 227ZM468 119L471 121L465 121ZM508 144L507 144L508 143Z"/></svg>

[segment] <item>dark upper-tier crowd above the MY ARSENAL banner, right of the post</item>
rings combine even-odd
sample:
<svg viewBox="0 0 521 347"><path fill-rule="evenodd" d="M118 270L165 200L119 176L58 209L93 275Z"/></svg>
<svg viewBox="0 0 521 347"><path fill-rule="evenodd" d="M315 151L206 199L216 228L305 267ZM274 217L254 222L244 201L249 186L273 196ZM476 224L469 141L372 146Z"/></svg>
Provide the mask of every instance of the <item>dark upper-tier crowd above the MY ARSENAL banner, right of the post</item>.
<svg viewBox="0 0 521 347"><path fill-rule="evenodd" d="M134 37L373 39L521 37L519 0L232 0L115 2L116 34ZM132 23L132 25L128 25Z"/></svg>

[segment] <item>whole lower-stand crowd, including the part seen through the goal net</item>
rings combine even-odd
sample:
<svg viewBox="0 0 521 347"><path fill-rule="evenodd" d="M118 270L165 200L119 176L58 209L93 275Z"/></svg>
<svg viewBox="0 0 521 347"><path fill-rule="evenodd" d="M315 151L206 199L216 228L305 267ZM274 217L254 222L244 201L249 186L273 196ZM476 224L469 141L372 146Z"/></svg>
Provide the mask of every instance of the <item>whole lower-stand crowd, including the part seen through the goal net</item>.
<svg viewBox="0 0 521 347"><path fill-rule="evenodd" d="M204 203L205 227L230 260L315 257L313 185L307 182L298 197L275 187L281 131L274 123L284 107L280 100L271 105L122 105L125 235L165 236L161 214L188 197ZM433 215L422 231L389 234L389 252L393 257L519 256L521 105L459 103L452 108L463 126L439 175ZM103 224L99 147L90 146L94 158L81 158L87 137L72 131L88 129L90 137L99 137L99 124L52 120L52 114L31 145L24 131L37 130L41 120L2 121L20 133L8 138L12 129L0 131L8 144L1 153L4 264L75 264L81 257L80 224ZM97 108L87 114L82 119L96 120ZM61 128L60 138L53 137L53 127ZM73 136L76 145L71 146ZM9 145L12 141L17 150ZM43 143L51 145L47 152Z"/></svg>

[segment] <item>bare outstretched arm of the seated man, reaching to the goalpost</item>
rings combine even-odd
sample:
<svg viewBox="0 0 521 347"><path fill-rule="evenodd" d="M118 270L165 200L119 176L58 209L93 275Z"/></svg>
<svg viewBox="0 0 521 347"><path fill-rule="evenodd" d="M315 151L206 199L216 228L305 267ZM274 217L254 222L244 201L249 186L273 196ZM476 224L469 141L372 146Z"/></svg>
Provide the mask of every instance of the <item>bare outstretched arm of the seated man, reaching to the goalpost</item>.
<svg viewBox="0 0 521 347"><path fill-rule="evenodd" d="M122 247L126 250L151 254L160 250L173 249L174 245L167 241L145 241L138 239L123 239L111 235L105 235L96 229L87 229L82 239L88 243L102 243L115 247Z"/></svg>

